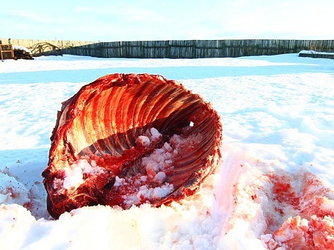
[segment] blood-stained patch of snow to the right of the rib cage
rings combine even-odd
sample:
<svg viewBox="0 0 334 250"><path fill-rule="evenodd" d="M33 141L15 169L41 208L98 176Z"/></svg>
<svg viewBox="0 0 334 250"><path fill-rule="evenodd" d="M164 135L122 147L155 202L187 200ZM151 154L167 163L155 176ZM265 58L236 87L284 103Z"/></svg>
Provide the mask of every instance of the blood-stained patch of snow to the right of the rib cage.
<svg viewBox="0 0 334 250"><path fill-rule="evenodd" d="M269 201L275 204L283 224L261 239L269 249L334 249L334 201L330 189L312 173L269 173L272 190ZM290 213L290 214L289 214ZM267 224L278 221L267 216Z"/></svg>

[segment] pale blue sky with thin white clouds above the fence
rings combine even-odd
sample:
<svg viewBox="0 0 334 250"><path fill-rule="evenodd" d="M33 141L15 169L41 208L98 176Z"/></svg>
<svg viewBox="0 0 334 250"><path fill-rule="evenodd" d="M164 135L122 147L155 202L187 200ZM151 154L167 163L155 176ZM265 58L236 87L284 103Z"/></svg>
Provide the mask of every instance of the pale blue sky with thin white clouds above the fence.
<svg viewBox="0 0 334 250"><path fill-rule="evenodd" d="M333 0L10 1L0 37L82 41L334 39Z"/></svg>

